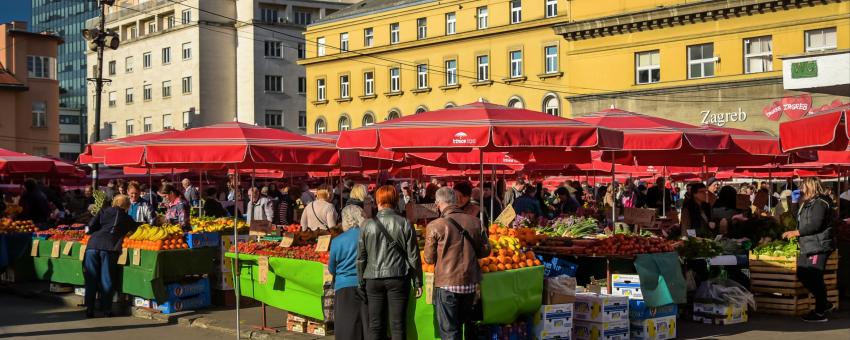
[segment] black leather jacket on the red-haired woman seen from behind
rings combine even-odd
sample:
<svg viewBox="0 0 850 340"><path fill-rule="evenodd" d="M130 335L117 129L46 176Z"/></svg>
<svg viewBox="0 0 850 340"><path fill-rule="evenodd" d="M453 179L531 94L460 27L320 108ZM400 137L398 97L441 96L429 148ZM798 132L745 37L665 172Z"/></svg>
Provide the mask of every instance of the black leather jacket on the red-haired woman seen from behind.
<svg viewBox="0 0 850 340"><path fill-rule="evenodd" d="M366 279L382 279L410 275L413 285L422 287L422 263L419 259L419 243L416 232L406 218L393 209L381 209L375 216L395 239L405 255L392 249L390 242L379 231L374 219L368 219L360 229L357 242L357 277L361 284ZM411 265L413 268L411 268Z"/></svg>

